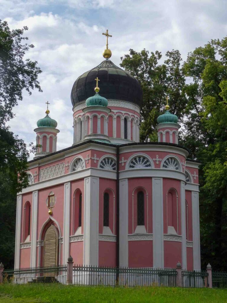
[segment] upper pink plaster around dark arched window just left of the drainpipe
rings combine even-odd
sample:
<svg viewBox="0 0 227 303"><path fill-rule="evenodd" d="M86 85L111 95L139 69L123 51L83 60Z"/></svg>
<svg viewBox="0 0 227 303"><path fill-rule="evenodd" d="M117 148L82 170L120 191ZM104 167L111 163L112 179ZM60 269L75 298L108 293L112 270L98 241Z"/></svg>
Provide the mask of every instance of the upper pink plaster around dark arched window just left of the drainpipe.
<svg viewBox="0 0 227 303"><path fill-rule="evenodd" d="M99 179L99 234L103 233L103 199L104 192L109 194L109 228L116 235L116 181L111 179ZM115 198L114 198L115 197ZM115 205L114 205L115 204ZM114 228L113 228L114 223Z"/></svg>

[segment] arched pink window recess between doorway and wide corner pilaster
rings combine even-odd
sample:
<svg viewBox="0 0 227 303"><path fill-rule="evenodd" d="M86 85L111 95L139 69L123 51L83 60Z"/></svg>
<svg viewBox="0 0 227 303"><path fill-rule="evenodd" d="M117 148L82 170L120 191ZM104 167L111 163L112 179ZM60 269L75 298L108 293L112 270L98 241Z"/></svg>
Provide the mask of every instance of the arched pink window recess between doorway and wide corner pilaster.
<svg viewBox="0 0 227 303"><path fill-rule="evenodd" d="M74 192L73 196L73 233L81 234L82 225L82 193L80 189Z"/></svg>

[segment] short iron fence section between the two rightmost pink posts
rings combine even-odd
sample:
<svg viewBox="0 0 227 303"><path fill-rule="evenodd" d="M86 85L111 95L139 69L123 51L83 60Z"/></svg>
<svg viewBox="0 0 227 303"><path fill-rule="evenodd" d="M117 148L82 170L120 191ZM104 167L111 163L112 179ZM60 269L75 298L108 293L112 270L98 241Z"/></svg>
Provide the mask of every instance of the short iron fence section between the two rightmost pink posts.
<svg viewBox="0 0 227 303"><path fill-rule="evenodd" d="M208 273L206 271L182 271L182 286L203 288L207 285Z"/></svg>

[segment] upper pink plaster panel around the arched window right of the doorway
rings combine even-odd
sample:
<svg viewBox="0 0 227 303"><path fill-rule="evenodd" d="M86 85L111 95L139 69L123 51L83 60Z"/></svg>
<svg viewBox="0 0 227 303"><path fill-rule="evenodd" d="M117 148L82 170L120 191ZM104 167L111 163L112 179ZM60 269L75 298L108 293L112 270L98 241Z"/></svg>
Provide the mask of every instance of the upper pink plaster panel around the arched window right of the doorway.
<svg viewBox="0 0 227 303"><path fill-rule="evenodd" d="M71 182L71 212L70 212L70 215L71 215L71 219L70 219L70 235L74 235L73 233L73 222L74 222L74 205L73 205L73 202L74 202L74 193L75 191L81 191L82 193L82 216L81 216L81 234L83 234L84 232L84 179L80 179L80 180L76 180L76 181L72 181ZM77 203L76 203L77 205ZM78 215L78 211L76 212L76 215ZM78 223L78 217L75 218L75 220L77 221ZM78 227L78 226L77 226Z"/></svg>

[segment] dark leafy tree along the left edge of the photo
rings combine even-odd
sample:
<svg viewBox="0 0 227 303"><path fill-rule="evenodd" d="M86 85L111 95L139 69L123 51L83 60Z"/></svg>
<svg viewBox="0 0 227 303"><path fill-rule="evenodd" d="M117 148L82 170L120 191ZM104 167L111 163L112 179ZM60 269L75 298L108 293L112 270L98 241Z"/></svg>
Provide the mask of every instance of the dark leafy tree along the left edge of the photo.
<svg viewBox="0 0 227 303"><path fill-rule="evenodd" d="M28 28L10 30L0 20L0 230L1 261L6 267L14 264L16 194L28 186L26 170L29 152L23 140L10 132L6 122L14 117L13 108L23 98L25 89L41 92L37 62L24 56L33 45L24 43ZM30 144L31 151L36 147Z"/></svg>

